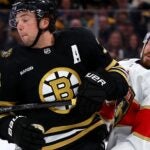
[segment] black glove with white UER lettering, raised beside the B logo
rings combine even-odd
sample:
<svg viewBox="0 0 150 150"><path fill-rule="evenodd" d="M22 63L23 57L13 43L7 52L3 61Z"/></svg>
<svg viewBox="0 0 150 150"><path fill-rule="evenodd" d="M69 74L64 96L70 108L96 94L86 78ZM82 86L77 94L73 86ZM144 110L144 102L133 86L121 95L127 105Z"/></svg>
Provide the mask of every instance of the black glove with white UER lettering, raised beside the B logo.
<svg viewBox="0 0 150 150"><path fill-rule="evenodd" d="M78 97L84 97L102 103L105 99L112 100L115 82L105 70L89 72L78 90ZM114 93L115 94L115 93Z"/></svg>

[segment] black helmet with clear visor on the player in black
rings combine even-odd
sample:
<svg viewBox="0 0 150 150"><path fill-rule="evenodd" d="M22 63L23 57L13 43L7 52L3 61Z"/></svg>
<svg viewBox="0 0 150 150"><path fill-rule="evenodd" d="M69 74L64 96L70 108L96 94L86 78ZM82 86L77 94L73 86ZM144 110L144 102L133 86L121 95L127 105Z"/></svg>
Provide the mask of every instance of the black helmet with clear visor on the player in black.
<svg viewBox="0 0 150 150"><path fill-rule="evenodd" d="M56 22L56 2L55 0L15 0L12 4L10 12L9 25L16 27L16 14L20 11L29 10L35 12L37 20L42 19L44 16L50 18L49 30L55 30Z"/></svg>

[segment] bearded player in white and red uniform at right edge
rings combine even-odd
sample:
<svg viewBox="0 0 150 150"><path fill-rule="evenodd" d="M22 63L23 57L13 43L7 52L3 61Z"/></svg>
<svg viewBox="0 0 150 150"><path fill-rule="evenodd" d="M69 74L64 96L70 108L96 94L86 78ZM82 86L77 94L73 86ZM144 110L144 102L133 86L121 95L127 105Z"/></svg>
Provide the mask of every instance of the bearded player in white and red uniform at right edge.
<svg viewBox="0 0 150 150"><path fill-rule="evenodd" d="M143 41L140 59L123 60L135 99L112 130L107 150L150 150L150 32Z"/></svg>

